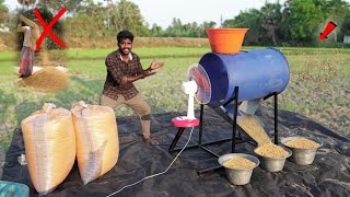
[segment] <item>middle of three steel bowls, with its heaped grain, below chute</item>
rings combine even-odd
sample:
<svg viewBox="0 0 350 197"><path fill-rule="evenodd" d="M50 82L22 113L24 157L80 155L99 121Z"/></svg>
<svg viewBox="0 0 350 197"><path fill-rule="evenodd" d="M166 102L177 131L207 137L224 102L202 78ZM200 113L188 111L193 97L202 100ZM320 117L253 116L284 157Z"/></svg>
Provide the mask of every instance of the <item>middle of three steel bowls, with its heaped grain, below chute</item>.
<svg viewBox="0 0 350 197"><path fill-rule="evenodd" d="M292 155L291 150L273 143L259 146L254 152L258 154L261 167L269 172L282 171L285 159Z"/></svg>

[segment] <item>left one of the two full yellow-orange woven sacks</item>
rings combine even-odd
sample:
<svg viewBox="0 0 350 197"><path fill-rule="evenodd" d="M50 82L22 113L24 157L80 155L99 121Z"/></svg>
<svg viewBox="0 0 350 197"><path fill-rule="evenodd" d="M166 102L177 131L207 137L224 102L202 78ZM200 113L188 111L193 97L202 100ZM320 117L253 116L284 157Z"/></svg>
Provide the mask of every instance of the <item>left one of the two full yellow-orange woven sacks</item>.
<svg viewBox="0 0 350 197"><path fill-rule="evenodd" d="M75 136L68 109L44 104L21 123L30 176L39 195L63 182L75 161Z"/></svg>

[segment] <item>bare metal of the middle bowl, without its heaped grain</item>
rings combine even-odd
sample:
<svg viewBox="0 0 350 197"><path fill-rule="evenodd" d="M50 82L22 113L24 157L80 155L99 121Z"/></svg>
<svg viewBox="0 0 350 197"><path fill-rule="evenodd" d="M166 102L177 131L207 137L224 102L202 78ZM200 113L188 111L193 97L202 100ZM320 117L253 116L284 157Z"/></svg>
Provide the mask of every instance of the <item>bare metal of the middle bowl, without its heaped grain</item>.
<svg viewBox="0 0 350 197"><path fill-rule="evenodd" d="M281 147L281 148L284 149L289 153L284 158L267 158L267 157L262 157L262 155L257 154L260 160L260 166L264 170L269 171L269 172L280 172L283 170L285 159L292 155L292 151L285 147ZM256 153L256 149L254 150L254 152Z"/></svg>

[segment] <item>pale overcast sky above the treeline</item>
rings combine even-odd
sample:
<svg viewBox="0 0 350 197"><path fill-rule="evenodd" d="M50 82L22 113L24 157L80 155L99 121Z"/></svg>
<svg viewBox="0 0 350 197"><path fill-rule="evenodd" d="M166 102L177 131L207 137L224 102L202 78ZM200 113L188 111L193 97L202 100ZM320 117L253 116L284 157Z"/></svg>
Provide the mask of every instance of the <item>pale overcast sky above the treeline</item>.
<svg viewBox="0 0 350 197"><path fill-rule="evenodd" d="M95 0L106 3L105 0ZM117 0L112 0L117 2ZM184 23L202 23L213 21L220 25L220 19L233 19L240 11L250 8L259 9L266 1L277 0L129 0L139 5L145 22L156 23L163 28L172 24L173 18L180 19ZM280 0L283 3L285 0ZM347 0L350 2L350 0ZM16 0L5 0L10 9L20 7Z"/></svg>

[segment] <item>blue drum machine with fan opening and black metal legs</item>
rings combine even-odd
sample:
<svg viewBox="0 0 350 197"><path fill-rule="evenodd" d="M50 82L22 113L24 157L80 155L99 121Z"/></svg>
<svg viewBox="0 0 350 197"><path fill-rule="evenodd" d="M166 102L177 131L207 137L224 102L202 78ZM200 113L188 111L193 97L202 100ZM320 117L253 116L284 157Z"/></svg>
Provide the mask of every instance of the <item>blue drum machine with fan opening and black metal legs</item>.
<svg viewBox="0 0 350 197"><path fill-rule="evenodd" d="M210 38L210 36L209 36ZM240 47L241 48L241 47ZM213 49L213 47L212 47ZM290 69L283 54L276 48L240 50L235 54L208 53L199 63L188 70L188 80L195 80L198 91L195 95L200 103L199 141L192 147L220 157L205 146L232 140L232 152L235 144L250 142L236 135L238 106L248 106L273 96L275 99L275 143L278 143L278 94L288 85ZM202 143L203 105L209 106L233 126L232 138ZM254 108L254 107L252 107ZM253 112L254 113L254 112ZM241 128L242 129L242 128ZM178 137L177 137L178 140ZM177 141L173 141L173 152ZM191 148L191 147L188 147ZM203 171L205 172L205 171ZM199 173L201 173L199 171Z"/></svg>

